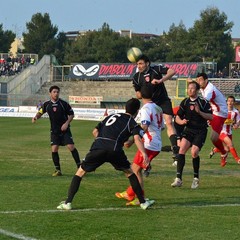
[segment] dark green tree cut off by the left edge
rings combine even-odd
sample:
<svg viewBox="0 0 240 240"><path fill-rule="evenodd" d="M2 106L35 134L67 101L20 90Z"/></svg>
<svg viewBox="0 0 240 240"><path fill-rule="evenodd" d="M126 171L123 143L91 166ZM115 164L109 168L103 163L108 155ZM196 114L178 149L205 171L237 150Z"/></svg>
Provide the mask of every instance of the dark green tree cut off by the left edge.
<svg viewBox="0 0 240 240"><path fill-rule="evenodd" d="M0 52L9 52L9 49L11 48L11 44L13 43L15 37L15 33L9 30L4 31L3 25L0 24Z"/></svg>

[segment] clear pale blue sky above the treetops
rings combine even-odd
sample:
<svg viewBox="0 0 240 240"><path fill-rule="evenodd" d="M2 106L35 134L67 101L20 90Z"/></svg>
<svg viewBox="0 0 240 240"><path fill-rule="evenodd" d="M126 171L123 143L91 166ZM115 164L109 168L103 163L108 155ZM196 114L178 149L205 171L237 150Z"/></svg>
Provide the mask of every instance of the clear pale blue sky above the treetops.
<svg viewBox="0 0 240 240"><path fill-rule="evenodd" d="M0 4L0 24L17 37L36 13L49 13L60 32L98 30L107 23L114 31L160 35L182 21L187 29L207 7L217 7L232 21L232 37L240 38L240 0L7 0Z"/></svg>

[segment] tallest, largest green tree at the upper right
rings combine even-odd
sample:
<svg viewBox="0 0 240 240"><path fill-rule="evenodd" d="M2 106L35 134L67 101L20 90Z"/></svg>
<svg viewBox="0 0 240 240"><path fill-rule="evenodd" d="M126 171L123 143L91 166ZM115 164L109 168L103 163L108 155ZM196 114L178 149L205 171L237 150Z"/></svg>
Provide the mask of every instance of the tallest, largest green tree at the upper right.
<svg viewBox="0 0 240 240"><path fill-rule="evenodd" d="M215 61L222 70L233 61L234 50L231 42L233 22L227 22L225 13L215 7L202 11L201 19L189 29L192 61Z"/></svg>

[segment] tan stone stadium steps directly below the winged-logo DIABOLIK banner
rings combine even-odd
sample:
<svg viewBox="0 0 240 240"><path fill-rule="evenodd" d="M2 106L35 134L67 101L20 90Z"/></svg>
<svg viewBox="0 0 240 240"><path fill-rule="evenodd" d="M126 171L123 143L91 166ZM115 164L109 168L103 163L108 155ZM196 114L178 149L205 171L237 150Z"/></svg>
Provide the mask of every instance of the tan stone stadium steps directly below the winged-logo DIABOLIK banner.
<svg viewBox="0 0 240 240"><path fill-rule="evenodd" d="M103 107L103 108L124 108L125 102L135 97L135 90L131 81L64 81L47 82L38 91L38 95L46 96L50 86L57 85L61 89L60 97L68 101L69 96L101 96L103 102L100 105L78 104L76 107ZM176 81L166 82L166 88L169 96L176 95ZM46 100L45 99L45 100Z"/></svg>

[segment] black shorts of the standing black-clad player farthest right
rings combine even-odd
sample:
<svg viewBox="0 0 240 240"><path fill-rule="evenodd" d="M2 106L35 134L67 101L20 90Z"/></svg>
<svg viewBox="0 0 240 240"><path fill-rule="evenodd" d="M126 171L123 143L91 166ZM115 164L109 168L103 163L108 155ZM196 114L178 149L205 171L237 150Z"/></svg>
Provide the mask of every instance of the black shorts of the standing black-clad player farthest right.
<svg viewBox="0 0 240 240"><path fill-rule="evenodd" d="M207 138L207 128L205 129L190 129L185 128L182 133L182 138L187 139L191 145L202 148Z"/></svg>

